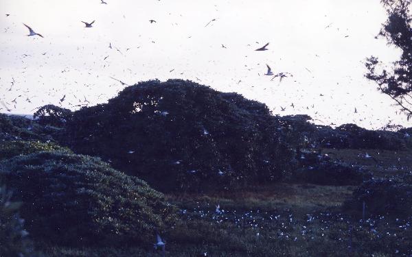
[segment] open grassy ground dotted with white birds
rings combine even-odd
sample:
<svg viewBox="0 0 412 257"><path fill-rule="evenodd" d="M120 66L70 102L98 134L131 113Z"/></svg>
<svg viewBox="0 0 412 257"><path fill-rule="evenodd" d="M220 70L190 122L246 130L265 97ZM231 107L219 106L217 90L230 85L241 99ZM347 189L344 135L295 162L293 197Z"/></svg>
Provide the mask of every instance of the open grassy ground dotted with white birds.
<svg viewBox="0 0 412 257"><path fill-rule="evenodd" d="M372 158L365 158L365 154ZM379 176L412 170L412 154L323 149L332 158ZM169 234L165 256L412 256L411 220L351 217L341 205L354 186L278 183L207 194L168 195L181 223ZM220 212L216 212L219 205ZM153 238L155 241L155 236ZM152 245L56 247L47 256L161 256Z"/></svg>

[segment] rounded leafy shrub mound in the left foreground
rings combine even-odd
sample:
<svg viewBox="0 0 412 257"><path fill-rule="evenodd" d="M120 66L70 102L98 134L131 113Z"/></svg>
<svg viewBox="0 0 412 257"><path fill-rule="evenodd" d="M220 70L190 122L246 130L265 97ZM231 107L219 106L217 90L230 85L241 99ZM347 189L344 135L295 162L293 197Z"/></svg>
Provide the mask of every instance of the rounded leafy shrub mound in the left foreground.
<svg viewBox="0 0 412 257"><path fill-rule="evenodd" d="M139 243L174 222L163 195L98 158L42 151L1 162L1 177L38 238L62 244Z"/></svg>

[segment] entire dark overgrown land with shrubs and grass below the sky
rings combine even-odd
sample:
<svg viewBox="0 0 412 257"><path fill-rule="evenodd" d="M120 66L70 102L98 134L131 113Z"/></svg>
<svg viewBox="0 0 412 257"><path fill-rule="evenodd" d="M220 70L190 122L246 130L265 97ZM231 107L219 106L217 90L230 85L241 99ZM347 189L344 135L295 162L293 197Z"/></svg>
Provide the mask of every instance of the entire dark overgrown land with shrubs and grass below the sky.
<svg viewBox="0 0 412 257"><path fill-rule="evenodd" d="M156 233L166 256L412 254L411 128L176 79L34 117L0 115L0 256L161 256Z"/></svg>

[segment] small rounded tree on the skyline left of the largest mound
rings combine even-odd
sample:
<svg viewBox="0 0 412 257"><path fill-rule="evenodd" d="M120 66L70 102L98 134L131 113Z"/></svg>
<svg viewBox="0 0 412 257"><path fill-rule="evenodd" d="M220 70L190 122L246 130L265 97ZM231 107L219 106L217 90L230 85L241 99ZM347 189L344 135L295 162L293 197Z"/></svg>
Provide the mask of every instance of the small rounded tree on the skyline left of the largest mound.
<svg viewBox="0 0 412 257"><path fill-rule="evenodd" d="M62 127L71 119L71 110L47 104L34 112L34 119L38 119L41 125Z"/></svg>

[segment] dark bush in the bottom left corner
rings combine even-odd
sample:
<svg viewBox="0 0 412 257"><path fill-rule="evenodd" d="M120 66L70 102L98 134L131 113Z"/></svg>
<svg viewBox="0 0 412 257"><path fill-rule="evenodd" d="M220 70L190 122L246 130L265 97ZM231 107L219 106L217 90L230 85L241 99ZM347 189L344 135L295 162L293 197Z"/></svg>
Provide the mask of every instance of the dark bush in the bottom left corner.
<svg viewBox="0 0 412 257"><path fill-rule="evenodd" d="M32 244L19 217L21 204L11 197L11 192L0 186L0 256L32 256Z"/></svg>

